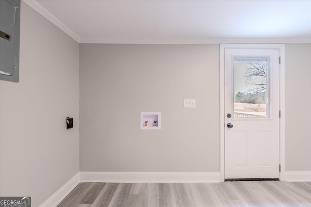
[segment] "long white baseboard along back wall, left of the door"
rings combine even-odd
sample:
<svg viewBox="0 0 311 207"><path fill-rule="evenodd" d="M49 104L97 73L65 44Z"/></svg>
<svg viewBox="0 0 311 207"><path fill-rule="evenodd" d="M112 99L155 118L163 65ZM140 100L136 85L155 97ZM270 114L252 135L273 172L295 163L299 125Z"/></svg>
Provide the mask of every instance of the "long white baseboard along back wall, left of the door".
<svg viewBox="0 0 311 207"><path fill-rule="evenodd" d="M80 172L81 182L117 183L215 183L220 173Z"/></svg>

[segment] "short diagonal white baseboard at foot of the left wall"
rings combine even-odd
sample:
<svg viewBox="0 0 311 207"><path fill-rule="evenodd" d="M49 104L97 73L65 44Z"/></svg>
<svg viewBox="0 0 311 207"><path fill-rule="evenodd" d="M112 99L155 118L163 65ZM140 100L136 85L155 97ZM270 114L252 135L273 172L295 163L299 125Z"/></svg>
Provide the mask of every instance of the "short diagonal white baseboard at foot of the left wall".
<svg viewBox="0 0 311 207"><path fill-rule="evenodd" d="M39 207L56 207L79 183L80 173L77 173Z"/></svg>

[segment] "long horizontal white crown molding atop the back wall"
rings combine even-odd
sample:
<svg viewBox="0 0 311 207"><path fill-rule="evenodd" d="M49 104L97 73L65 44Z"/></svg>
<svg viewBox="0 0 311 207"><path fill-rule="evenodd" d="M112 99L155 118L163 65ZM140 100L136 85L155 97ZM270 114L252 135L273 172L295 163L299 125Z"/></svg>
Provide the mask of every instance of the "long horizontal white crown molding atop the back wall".
<svg viewBox="0 0 311 207"><path fill-rule="evenodd" d="M311 38L231 38L231 39L201 39L201 40L138 40L138 39L85 39L80 43L99 44L150 44L150 45L186 45L186 44L223 44L223 43L251 43L251 44L284 44L284 43L311 43Z"/></svg>

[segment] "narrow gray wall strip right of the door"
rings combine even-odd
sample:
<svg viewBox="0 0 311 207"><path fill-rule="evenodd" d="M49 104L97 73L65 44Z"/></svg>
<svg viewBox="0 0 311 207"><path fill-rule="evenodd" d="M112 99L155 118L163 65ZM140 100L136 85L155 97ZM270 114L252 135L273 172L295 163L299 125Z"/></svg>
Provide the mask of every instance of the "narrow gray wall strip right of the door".
<svg viewBox="0 0 311 207"><path fill-rule="evenodd" d="M286 171L311 171L311 44L287 44Z"/></svg>

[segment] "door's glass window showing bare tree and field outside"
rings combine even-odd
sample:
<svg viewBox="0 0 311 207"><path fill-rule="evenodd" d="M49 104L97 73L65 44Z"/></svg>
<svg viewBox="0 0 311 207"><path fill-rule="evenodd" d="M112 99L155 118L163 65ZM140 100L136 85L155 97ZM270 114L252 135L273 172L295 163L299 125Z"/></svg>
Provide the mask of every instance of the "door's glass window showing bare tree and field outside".
<svg viewBox="0 0 311 207"><path fill-rule="evenodd" d="M235 118L269 117L268 58L234 58Z"/></svg>

